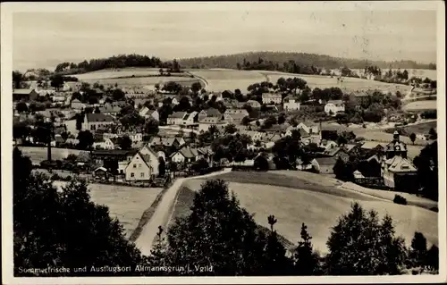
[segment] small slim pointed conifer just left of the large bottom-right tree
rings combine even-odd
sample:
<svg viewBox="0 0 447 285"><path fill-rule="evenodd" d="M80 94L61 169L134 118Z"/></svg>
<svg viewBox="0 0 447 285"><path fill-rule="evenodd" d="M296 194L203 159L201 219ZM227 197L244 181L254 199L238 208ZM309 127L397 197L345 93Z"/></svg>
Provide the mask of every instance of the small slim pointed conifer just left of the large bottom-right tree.
<svg viewBox="0 0 447 285"><path fill-rule="evenodd" d="M319 256L314 252L311 242L312 237L308 234L308 226L303 222L301 225L301 240L295 248L293 259L294 266L299 275L316 275L319 273Z"/></svg>

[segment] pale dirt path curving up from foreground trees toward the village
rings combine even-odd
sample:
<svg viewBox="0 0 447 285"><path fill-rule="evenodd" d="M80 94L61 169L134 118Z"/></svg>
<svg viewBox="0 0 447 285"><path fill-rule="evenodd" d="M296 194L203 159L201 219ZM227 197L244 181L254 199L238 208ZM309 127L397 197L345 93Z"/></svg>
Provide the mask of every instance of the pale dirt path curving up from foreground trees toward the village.
<svg viewBox="0 0 447 285"><path fill-rule="evenodd" d="M156 207L156 212L152 215L152 218L148 222L148 224L143 228L139 238L135 241L135 245L141 251L141 254L148 256L150 255L150 250L156 239L156 233L158 231L158 226L162 226L165 228L166 224L169 222L173 212L173 205L175 202L175 198L177 197L177 193L181 188L181 185L184 181L190 179L203 179L215 175L220 175L225 172L231 172L231 168L226 168L222 172L214 172L209 173L202 176L193 176L188 178L181 178L175 180L173 185L167 189L166 193L164 193L164 197L162 198L160 204Z"/></svg>

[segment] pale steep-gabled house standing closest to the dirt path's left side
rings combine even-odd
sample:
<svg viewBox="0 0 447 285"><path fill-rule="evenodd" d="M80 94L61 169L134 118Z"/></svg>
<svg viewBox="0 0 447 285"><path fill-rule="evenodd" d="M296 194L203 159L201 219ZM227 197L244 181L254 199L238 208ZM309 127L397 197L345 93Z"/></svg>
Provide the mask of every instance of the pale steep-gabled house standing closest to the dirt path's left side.
<svg viewBox="0 0 447 285"><path fill-rule="evenodd" d="M147 147L133 155L124 173L126 181L148 181L158 175L158 157Z"/></svg>

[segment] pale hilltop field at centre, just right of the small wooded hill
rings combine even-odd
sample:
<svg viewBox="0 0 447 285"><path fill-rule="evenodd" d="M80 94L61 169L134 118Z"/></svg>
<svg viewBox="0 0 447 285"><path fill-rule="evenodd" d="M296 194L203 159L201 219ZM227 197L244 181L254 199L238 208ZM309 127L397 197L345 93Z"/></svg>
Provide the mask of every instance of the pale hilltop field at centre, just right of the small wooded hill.
<svg viewBox="0 0 447 285"><path fill-rule="evenodd" d="M190 73L207 80L207 90L222 92L224 90L240 89L247 92L250 84L266 81L266 77L257 71L238 71L225 69L190 70Z"/></svg>

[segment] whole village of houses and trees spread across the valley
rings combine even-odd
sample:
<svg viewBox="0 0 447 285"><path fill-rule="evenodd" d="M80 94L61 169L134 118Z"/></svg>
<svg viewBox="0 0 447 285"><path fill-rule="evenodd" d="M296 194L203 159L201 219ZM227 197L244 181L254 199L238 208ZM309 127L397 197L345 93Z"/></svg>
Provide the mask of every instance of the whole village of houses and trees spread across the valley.
<svg viewBox="0 0 447 285"><path fill-rule="evenodd" d="M435 121L435 113L402 112L405 95L399 91L346 94L281 78L254 83L243 95L239 89L208 92L200 82L120 88L66 79L23 81L26 88L13 89L13 143L47 147L36 168L55 179L81 174L90 181L150 187L223 167L290 169L417 193L407 144L410 139L425 146L436 136L430 130L401 140L398 126ZM417 88L433 90L426 82ZM386 114L372 111L385 101ZM365 111L373 122L358 118ZM358 130L383 129L391 130L392 139L356 136ZM53 160L60 148L80 152Z"/></svg>

